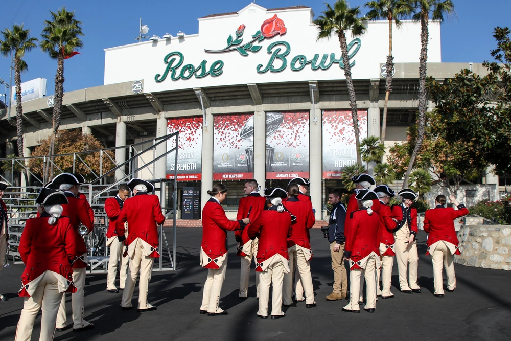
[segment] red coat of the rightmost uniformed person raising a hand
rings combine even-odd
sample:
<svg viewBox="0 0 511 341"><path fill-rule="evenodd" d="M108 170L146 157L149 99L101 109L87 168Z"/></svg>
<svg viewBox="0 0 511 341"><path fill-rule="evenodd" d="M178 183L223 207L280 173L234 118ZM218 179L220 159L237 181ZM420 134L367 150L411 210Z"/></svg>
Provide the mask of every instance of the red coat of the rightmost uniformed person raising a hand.
<svg viewBox="0 0 511 341"><path fill-rule="evenodd" d="M424 218L424 232L428 234L428 251L429 247L434 243L443 240L456 246L456 255L459 255L458 237L454 230L454 219L466 216L469 210L464 205L459 205L455 211L452 207L437 206L432 210L427 210Z"/></svg>

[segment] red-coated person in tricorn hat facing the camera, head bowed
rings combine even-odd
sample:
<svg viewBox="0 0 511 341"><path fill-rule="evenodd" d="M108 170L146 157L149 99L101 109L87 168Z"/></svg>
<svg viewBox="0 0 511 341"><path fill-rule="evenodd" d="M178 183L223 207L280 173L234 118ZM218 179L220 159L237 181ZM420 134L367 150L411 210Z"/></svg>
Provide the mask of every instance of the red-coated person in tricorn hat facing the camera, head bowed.
<svg viewBox="0 0 511 341"><path fill-rule="evenodd" d="M409 188L398 192L403 198L399 205L392 206L392 218L399 223L394 229L394 252L398 263L399 286L404 293L420 293L421 287L417 284L417 267L419 254L417 254L417 209L412 208L413 200L417 194Z"/></svg>

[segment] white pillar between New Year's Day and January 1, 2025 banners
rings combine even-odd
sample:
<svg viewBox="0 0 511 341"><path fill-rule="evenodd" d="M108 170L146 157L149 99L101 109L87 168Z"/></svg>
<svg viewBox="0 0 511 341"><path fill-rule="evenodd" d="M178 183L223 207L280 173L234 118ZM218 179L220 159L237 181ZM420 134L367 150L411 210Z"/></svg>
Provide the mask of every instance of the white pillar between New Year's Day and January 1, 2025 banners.
<svg viewBox="0 0 511 341"><path fill-rule="evenodd" d="M253 176L261 185L261 189L264 189L266 181L266 112L261 109L261 106L258 106L254 112Z"/></svg>

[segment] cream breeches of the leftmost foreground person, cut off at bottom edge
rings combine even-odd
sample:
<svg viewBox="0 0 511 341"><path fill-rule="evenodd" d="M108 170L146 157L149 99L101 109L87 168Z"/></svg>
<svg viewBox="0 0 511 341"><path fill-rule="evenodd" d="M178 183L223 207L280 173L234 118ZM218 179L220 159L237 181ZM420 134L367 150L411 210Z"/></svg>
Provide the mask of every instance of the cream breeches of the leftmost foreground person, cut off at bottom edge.
<svg viewBox="0 0 511 341"><path fill-rule="evenodd" d="M50 271L46 271L32 297L24 298L23 310L19 316L15 341L30 341L34 321L42 308L41 334L39 341L51 341L55 333L57 312L62 301L63 292L59 292L57 279Z"/></svg>

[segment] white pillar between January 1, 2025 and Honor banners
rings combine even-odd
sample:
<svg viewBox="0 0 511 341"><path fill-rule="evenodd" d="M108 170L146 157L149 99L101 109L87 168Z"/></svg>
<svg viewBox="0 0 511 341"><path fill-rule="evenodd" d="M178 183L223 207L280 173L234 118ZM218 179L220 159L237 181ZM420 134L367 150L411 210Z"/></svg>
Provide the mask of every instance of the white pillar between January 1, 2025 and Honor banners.
<svg viewBox="0 0 511 341"><path fill-rule="evenodd" d="M322 198L321 198L321 180L323 178L322 161L322 139L321 139L321 110L318 104L315 110L310 111L309 115L309 174L311 186L309 188L312 199L312 207L316 210L316 220L322 219Z"/></svg>

